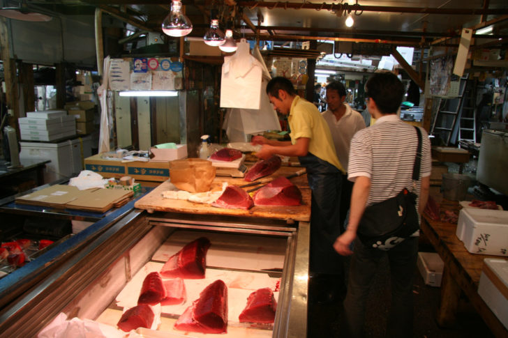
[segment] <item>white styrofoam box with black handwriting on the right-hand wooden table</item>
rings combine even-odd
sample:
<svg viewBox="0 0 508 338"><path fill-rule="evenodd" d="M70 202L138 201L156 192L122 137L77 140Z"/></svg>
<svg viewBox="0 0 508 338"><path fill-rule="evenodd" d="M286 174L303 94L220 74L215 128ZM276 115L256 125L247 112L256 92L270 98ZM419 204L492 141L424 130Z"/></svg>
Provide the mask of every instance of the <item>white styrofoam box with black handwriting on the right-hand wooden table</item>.
<svg viewBox="0 0 508 338"><path fill-rule="evenodd" d="M463 208L456 235L472 254L508 256L508 211Z"/></svg>

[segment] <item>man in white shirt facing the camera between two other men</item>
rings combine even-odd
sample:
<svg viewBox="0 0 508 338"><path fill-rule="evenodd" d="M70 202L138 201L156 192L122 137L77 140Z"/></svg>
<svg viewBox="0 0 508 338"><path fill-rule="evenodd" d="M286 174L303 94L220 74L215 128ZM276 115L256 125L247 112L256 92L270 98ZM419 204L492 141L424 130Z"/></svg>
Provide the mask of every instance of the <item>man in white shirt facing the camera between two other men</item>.
<svg viewBox="0 0 508 338"><path fill-rule="evenodd" d="M348 171L348 160L351 139L358 130L365 128L365 121L361 114L345 103L345 86L338 81L330 82L327 86L328 109L322 116L330 128L331 138L334 139L335 151L339 162ZM348 180L348 174L342 176L340 225L343 226L351 202L353 183Z"/></svg>

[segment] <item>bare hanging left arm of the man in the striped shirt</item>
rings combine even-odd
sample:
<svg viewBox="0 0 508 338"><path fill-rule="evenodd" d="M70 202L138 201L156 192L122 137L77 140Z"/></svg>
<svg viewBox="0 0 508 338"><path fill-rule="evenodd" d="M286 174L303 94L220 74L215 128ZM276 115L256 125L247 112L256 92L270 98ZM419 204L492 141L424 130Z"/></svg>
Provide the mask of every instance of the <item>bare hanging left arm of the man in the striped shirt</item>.
<svg viewBox="0 0 508 338"><path fill-rule="evenodd" d="M351 193L350 217L348 229L335 240L334 249L343 256L352 254L350 245L357 237L358 224L361 216L364 215L368 194L371 191L371 178L358 176L354 181L353 191Z"/></svg>

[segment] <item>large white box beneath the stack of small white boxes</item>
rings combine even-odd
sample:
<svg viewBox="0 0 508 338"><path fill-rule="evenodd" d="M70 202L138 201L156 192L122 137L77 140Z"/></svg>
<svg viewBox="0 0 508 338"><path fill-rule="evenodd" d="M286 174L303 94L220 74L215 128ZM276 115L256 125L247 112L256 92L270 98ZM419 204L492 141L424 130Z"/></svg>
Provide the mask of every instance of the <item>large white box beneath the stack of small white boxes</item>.
<svg viewBox="0 0 508 338"><path fill-rule="evenodd" d="M79 174L83 159L91 156L91 136L59 143L20 142L20 158L51 160L46 164L44 183Z"/></svg>

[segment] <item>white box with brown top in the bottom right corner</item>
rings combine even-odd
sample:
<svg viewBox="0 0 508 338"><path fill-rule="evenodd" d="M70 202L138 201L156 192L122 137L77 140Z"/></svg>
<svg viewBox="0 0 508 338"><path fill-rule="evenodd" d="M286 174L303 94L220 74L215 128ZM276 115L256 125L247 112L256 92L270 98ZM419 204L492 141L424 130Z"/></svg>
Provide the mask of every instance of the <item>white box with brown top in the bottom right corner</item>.
<svg viewBox="0 0 508 338"><path fill-rule="evenodd" d="M508 261L484 259L478 294L508 329Z"/></svg>

